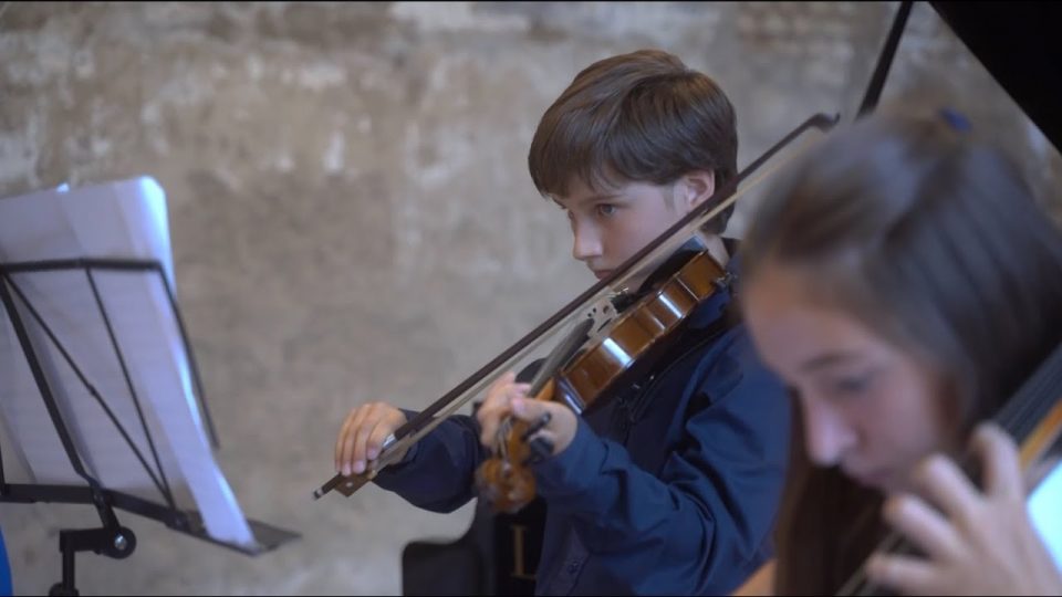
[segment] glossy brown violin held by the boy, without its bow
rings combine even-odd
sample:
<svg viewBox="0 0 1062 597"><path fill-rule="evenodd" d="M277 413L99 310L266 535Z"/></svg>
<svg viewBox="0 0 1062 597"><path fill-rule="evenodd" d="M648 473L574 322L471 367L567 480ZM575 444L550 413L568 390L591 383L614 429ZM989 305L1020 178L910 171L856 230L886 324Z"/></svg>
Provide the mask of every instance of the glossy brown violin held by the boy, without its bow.
<svg viewBox="0 0 1062 597"><path fill-rule="evenodd" d="M636 370L635 364L653 360L697 305L731 281L730 272L707 251L695 254L667 281L607 322L605 333L579 354L577 341L589 332L592 320L576 326L539 368L528 395L562 401L576 415L601 406L604 397L613 394L610 390ZM534 499L534 475L528 464L535 455L552 452L552 446L528 440L546 422L532 426L511 417L502 419L494 454L476 471L480 495L496 511L513 514Z"/></svg>

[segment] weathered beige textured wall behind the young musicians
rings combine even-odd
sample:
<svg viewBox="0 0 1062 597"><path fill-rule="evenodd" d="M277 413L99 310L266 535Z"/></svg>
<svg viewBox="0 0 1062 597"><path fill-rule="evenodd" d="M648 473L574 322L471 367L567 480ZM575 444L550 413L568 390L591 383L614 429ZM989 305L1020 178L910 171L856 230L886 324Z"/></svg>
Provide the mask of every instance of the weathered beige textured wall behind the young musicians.
<svg viewBox="0 0 1062 597"><path fill-rule="evenodd" d="M249 516L303 534L249 558L119 512L139 546L80 555L82 591L398 593L402 546L471 511L309 494L348 409L429 404L592 282L527 174L550 102L594 60L670 50L730 94L745 165L814 112L851 118L895 9L0 3L0 196L162 184L218 460ZM927 85L1059 188L1058 153L918 6L886 97ZM59 528L94 523L0 504L15 590L46 591Z"/></svg>

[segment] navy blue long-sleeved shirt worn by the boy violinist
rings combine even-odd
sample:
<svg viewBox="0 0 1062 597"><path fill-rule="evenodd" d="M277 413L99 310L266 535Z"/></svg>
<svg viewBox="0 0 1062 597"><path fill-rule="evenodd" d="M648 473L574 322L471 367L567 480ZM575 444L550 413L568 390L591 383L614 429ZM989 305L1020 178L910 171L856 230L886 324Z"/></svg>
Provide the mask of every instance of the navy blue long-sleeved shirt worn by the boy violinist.
<svg viewBox="0 0 1062 597"><path fill-rule="evenodd" d="M709 337L732 300L698 306L652 377L533 465L546 503L537 594L726 594L770 558L790 405L742 325ZM475 498L487 455L477 421L452 416L375 482L450 512Z"/></svg>

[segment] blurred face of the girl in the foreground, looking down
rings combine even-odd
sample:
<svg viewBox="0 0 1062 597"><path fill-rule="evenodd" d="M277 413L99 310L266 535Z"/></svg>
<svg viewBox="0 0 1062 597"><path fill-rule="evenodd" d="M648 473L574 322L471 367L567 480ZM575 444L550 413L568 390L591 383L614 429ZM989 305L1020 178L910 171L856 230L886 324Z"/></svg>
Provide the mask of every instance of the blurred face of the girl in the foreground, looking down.
<svg viewBox="0 0 1062 597"><path fill-rule="evenodd" d="M924 359L815 300L814 283L810 270L764 263L743 290L752 339L800 401L812 462L886 492L907 489L914 465L947 449L954 401Z"/></svg>

